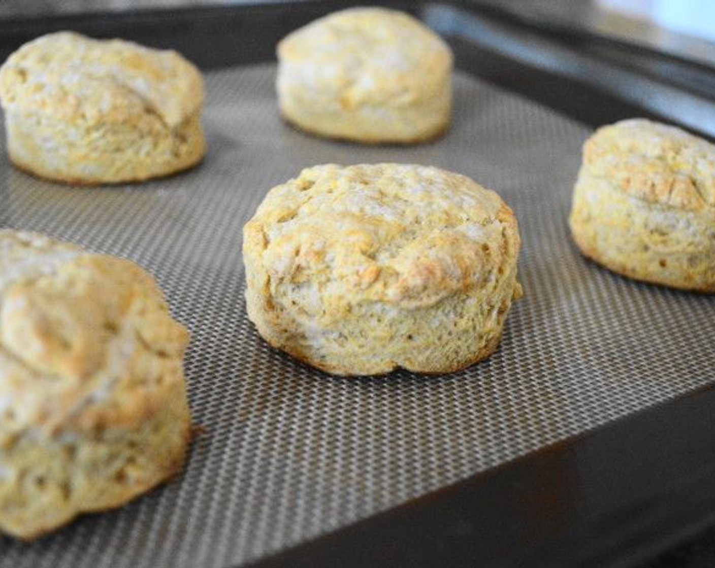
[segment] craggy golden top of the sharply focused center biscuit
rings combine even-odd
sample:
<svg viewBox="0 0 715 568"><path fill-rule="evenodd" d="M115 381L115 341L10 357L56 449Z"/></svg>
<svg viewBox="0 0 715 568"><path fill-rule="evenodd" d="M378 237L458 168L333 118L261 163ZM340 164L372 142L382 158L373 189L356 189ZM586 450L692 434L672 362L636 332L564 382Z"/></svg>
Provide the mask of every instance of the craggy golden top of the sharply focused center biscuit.
<svg viewBox="0 0 715 568"><path fill-rule="evenodd" d="M267 285L304 291L300 308L324 322L358 302L418 309L490 287L519 243L493 191L408 164L305 169L269 191L244 238Z"/></svg>

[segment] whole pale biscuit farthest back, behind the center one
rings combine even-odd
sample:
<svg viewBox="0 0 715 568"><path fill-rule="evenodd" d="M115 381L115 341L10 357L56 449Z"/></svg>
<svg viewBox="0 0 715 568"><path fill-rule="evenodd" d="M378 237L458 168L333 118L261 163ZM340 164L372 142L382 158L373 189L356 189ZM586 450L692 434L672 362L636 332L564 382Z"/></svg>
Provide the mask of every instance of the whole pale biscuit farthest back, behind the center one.
<svg viewBox="0 0 715 568"><path fill-rule="evenodd" d="M277 47L278 104L297 128L367 144L411 144L448 128L453 56L408 14L353 8Z"/></svg>

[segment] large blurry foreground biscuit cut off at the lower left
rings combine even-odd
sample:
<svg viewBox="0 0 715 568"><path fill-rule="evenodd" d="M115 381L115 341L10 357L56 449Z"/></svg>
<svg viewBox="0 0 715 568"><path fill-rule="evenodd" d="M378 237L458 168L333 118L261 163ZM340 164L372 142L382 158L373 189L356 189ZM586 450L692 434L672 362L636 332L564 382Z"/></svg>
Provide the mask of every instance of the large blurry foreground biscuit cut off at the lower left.
<svg viewBox="0 0 715 568"><path fill-rule="evenodd" d="M179 472L186 329L136 264L0 231L0 530L31 539Z"/></svg>

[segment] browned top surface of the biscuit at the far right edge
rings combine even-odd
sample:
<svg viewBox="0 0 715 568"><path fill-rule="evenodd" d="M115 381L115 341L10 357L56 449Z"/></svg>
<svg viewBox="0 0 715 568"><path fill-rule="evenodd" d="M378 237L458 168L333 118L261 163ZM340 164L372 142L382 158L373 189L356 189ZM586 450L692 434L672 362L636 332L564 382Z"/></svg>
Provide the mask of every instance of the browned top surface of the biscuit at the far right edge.
<svg viewBox="0 0 715 568"><path fill-rule="evenodd" d="M588 174L652 204L715 212L715 146L674 126L630 119L583 146Z"/></svg>

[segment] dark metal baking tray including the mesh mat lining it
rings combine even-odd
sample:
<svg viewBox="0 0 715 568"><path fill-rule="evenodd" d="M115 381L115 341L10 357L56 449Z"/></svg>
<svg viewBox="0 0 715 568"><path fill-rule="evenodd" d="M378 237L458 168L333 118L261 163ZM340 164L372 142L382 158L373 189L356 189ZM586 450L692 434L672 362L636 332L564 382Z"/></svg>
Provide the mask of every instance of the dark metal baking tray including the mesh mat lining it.
<svg viewBox="0 0 715 568"><path fill-rule="evenodd" d="M58 29L179 49L207 70L210 148L145 186L73 189L5 166L0 226L157 274L192 329L206 432L168 487L31 545L4 539L0 566L616 567L715 522L714 302L588 264L565 223L591 129L649 116L711 136L714 71L478 3L383 2L453 46L453 129L415 149L311 139L275 116L275 43L350 4L0 24L3 56ZM516 205L526 297L501 349L464 373L328 377L245 318L240 226L262 194L298 163L389 160L449 166Z"/></svg>

